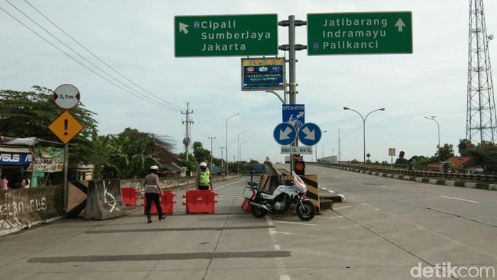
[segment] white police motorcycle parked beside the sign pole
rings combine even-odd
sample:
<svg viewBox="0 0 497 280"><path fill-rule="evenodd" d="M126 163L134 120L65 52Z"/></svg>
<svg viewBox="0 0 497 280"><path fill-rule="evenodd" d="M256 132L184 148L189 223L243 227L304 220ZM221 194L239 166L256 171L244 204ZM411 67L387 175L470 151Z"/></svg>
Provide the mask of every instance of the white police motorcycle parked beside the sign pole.
<svg viewBox="0 0 497 280"><path fill-rule="evenodd" d="M249 200L250 212L254 217L264 217L266 214L289 214L295 209L300 220L308 221L316 215L314 204L307 198L307 187L295 172L292 171L291 185L279 185L273 193L258 188L253 182L251 172L250 182L244 190L244 198Z"/></svg>

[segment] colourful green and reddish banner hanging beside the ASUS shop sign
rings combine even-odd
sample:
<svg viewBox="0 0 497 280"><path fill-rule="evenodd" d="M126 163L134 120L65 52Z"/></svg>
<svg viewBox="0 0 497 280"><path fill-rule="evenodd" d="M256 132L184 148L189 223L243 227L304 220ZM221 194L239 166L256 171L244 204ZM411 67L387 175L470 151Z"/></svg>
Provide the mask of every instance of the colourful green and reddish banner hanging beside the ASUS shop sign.
<svg viewBox="0 0 497 280"><path fill-rule="evenodd" d="M35 149L35 158L28 170L31 172L61 172L64 167L64 148L43 147Z"/></svg>

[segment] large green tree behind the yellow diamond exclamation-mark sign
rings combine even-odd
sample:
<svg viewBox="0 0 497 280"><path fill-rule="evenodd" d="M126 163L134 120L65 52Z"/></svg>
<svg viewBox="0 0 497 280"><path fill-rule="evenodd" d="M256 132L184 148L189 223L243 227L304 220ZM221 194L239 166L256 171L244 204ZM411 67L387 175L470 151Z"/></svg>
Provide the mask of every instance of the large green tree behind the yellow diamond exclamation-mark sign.
<svg viewBox="0 0 497 280"><path fill-rule="evenodd" d="M33 86L30 92L0 90L0 135L25 138L35 137L47 141L60 142L48 126L64 110L53 102L53 92L46 87ZM92 135L97 133L94 112L84 108L81 102L70 110L83 130L70 144L70 163L89 164L98 156L92 144Z"/></svg>

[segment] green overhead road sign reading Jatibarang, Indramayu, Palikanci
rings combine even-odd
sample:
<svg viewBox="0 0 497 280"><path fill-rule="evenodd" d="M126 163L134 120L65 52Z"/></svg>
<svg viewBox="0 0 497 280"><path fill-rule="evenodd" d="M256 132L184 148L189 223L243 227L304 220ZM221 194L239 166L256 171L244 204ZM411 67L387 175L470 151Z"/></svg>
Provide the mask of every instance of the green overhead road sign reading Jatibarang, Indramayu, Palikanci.
<svg viewBox="0 0 497 280"><path fill-rule="evenodd" d="M307 55L413 53L410 11L307 14Z"/></svg>

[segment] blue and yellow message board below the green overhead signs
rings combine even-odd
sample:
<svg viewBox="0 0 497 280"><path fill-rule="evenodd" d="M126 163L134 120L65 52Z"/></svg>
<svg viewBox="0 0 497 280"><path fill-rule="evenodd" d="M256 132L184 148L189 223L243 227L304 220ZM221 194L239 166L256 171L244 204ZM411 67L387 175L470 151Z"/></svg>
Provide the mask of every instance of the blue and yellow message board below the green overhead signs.
<svg viewBox="0 0 497 280"><path fill-rule="evenodd" d="M284 90L285 58L242 58L241 90Z"/></svg>

